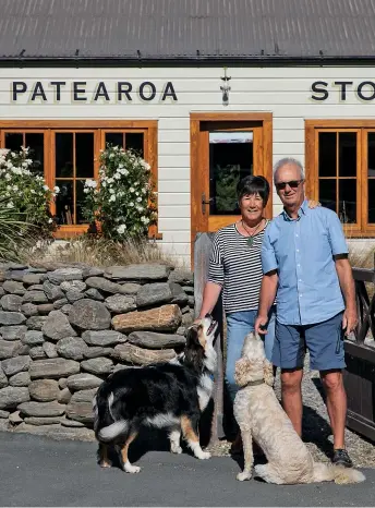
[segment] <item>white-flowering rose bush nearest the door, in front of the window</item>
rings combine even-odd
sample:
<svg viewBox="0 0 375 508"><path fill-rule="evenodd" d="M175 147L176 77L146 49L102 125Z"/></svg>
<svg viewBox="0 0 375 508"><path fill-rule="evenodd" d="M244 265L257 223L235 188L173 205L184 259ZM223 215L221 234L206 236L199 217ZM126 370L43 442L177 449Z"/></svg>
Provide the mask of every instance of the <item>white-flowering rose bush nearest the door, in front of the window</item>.
<svg viewBox="0 0 375 508"><path fill-rule="evenodd" d="M86 180L84 192L84 216L108 240L144 239L156 223L150 166L132 150L108 145L100 154L99 181Z"/></svg>

